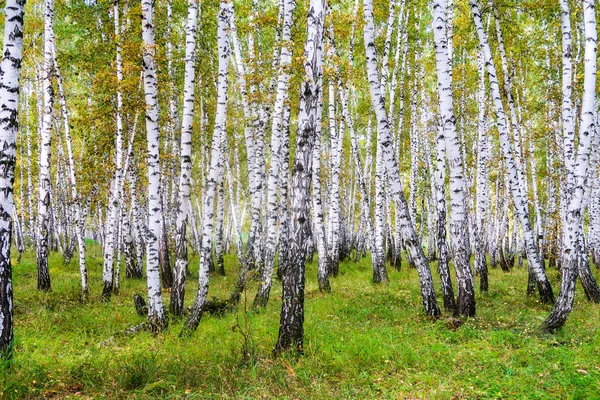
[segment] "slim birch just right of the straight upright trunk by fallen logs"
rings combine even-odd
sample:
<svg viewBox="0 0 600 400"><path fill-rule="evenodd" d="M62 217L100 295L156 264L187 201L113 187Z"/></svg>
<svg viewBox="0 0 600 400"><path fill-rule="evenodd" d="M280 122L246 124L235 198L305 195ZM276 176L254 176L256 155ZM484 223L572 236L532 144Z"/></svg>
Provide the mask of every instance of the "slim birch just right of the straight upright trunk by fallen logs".
<svg viewBox="0 0 600 400"><path fill-rule="evenodd" d="M196 80L196 25L198 1L188 0L188 17L185 33L185 76L183 84L183 118L181 121L181 148L179 195L175 225L175 276L171 289L170 310L181 315L185 298L185 278L188 270L187 226L190 204L190 176L192 172L192 128Z"/></svg>

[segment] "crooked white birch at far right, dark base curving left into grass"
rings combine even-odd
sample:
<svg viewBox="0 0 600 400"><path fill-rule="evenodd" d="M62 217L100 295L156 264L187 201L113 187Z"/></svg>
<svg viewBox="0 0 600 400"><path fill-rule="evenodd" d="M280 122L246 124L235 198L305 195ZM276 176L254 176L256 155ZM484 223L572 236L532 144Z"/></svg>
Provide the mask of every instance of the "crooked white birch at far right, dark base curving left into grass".
<svg viewBox="0 0 600 400"><path fill-rule="evenodd" d="M598 34L596 31L596 8L592 0L583 0L583 20L585 23L585 60L583 78L583 101L581 104L581 120L579 124L579 146L573 169L567 171L572 182L572 193L567 203L565 226L563 228L562 282L560 293L554 309L541 326L545 332L560 329L573 308L575 281L577 280L579 263L587 255L581 234L583 218L581 215L585 180L588 174L592 137L595 134L595 102L596 102L596 52Z"/></svg>

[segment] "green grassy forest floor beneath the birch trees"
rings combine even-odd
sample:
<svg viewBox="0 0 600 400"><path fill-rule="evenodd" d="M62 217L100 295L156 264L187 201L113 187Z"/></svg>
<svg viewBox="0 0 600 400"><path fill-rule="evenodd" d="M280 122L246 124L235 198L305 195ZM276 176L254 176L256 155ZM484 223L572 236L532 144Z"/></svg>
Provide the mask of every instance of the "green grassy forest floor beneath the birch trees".
<svg viewBox="0 0 600 400"><path fill-rule="evenodd" d="M321 294L315 258L307 270L305 353L295 358L271 354L277 281L266 309L246 313L242 300L235 312L205 316L192 337L181 338L183 320L173 319L162 334L125 336L144 320L132 296L145 293L145 281L124 279L121 293L105 303L99 246L89 247L88 265L86 304L76 259L63 265L52 256L50 293L36 290L34 253L14 266L15 357L10 368L0 365L0 397L600 398L600 306L578 287L565 328L542 335L537 327L550 308L524 294L525 269L491 270L490 292L477 293L477 317L453 330L448 317L423 315L415 270L390 270L391 282L376 286L368 259L345 262L333 293ZM191 267L187 304L197 260ZM226 269L225 277L211 276L212 296L224 298L233 287L233 258ZM559 274L549 276L558 294ZM252 282L248 305L255 289Z"/></svg>

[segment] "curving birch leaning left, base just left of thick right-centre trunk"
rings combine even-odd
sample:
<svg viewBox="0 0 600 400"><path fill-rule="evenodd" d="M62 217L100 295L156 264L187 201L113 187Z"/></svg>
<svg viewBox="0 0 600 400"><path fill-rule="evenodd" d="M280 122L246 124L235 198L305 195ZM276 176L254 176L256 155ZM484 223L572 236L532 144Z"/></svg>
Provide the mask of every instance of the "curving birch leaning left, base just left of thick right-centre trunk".
<svg viewBox="0 0 600 400"><path fill-rule="evenodd" d="M396 212L398 213L398 221L400 222L402 236L405 246L414 261L419 274L421 283L421 296L423 306L427 314L431 316L440 315L440 309L435 297L435 289L433 287L433 279L429 262L421 243L417 237L414 226L410 220L408 205L404 198L402 190L402 182L400 181L400 172L398 164L394 158L392 137L390 134L390 126L388 123L387 113L385 109L385 99L381 94L381 83L379 81L379 73L377 71L377 55L375 52L374 42L374 24L373 24L373 4L371 0L364 1L364 38L365 38L365 53L367 59L367 72L369 78L369 87L371 92L371 105L377 115L378 140L382 146L382 157L385 163L387 179L390 180L390 195L394 199Z"/></svg>

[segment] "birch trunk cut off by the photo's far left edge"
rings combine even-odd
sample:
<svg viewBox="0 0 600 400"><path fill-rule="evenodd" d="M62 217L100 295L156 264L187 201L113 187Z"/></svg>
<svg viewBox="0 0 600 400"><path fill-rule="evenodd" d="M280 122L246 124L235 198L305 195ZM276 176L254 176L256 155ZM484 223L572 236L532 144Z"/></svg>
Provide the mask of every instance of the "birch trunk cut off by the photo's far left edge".
<svg viewBox="0 0 600 400"><path fill-rule="evenodd" d="M19 76L23 59L24 16L24 0L6 1L4 44L0 61L0 360L12 357L14 338L11 213L14 208L13 184L19 130Z"/></svg>

